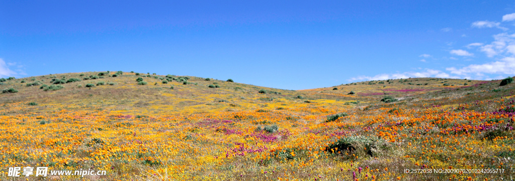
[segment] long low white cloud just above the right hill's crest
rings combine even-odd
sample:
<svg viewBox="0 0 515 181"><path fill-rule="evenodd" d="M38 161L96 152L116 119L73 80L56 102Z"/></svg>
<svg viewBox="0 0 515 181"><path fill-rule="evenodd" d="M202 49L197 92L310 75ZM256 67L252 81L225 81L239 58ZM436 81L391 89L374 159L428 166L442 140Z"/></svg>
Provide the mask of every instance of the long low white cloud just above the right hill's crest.
<svg viewBox="0 0 515 181"><path fill-rule="evenodd" d="M386 80L386 79L398 79L398 78L409 78L409 77L439 77L439 78L459 78L458 76L451 76L448 73L433 70L433 69L425 69L423 72L404 72L404 73L393 73L393 74L379 74L375 76L357 76L349 79L349 81L376 81L376 80Z"/></svg>

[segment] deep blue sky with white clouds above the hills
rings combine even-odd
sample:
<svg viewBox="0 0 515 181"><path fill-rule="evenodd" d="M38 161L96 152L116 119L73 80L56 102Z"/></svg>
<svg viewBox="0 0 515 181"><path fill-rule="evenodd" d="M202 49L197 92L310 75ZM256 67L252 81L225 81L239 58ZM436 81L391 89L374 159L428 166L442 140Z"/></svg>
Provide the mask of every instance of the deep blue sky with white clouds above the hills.
<svg viewBox="0 0 515 181"><path fill-rule="evenodd" d="M0 76L191 75L310 89L515 75L513 1L1 1Z"/></svg>

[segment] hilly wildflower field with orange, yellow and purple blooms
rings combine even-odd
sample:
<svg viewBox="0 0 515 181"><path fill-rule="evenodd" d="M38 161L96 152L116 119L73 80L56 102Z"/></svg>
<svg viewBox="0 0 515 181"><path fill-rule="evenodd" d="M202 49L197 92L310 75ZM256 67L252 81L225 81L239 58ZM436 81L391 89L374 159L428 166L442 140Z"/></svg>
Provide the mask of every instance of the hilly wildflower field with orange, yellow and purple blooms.
<svg viewBox="0 0 515 181"><path fill-rule="evenodd" d="M408 78L294 91L232 78L2 79L0 180L515 179L515 84ZM107 175L8 176L26 166Z"/></svg>

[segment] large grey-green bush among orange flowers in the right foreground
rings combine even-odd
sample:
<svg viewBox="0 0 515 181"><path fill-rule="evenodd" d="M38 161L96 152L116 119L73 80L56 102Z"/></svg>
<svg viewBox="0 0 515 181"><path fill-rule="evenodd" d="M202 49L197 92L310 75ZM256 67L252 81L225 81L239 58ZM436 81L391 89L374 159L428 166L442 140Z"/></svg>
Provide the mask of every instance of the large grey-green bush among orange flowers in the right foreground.
<svg viewBox="0 0 515 181"><path fill-rule="evenodd" d="M380 155L389 149L389 144L382 139L365 136L349 136L338 139L335 143L325 148L328 152L345 151L354 154L364 153L370 156Z"/></svg>

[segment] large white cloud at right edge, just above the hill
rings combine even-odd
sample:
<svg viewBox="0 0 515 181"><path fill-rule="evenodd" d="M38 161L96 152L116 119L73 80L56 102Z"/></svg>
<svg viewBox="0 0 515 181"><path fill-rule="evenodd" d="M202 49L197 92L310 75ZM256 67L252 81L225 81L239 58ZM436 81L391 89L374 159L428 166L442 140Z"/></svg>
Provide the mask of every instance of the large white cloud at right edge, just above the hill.
<svg viewBox="0 0 515 181"><path fill-rule="evenodd" d="M500 61L480 64L480 65L469 65L463 68L454 68L450 67L445 70L450 71L453 74L457 75L468 75L468 74L476 74L478 76L483 76L484 73L495 73L495 74L515 74L515 58L514 57L505 57Z"/></svg>

